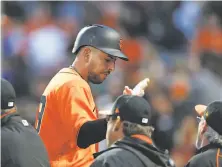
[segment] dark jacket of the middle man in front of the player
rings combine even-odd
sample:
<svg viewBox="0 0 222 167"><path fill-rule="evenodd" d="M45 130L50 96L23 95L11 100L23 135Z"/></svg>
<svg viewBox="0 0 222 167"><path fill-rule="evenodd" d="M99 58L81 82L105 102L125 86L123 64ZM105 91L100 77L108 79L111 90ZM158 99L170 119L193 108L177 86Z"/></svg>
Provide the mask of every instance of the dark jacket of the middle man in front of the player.
<svg viewBox="0 0 222 167"><path fill-rule="evenodd" d="M95 154L91 167L171 167L173 161L155 146L145 141L125 137L109 149Z"/></svg>

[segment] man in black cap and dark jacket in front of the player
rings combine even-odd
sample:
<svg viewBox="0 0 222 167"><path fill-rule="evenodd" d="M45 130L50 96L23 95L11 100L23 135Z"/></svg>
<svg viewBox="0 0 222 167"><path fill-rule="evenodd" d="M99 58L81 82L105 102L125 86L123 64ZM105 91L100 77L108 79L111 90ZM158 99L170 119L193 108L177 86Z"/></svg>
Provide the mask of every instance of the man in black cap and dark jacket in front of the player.
<svg viewBox="0 0 222 167"><path fill-rule="evenodd" d="M91 167L168 167L173 166L169 155L152 142L151 110L139 96L117 98L107 116L107 150L96 153ZM114 143L114 144L113 144Z"/></svg>

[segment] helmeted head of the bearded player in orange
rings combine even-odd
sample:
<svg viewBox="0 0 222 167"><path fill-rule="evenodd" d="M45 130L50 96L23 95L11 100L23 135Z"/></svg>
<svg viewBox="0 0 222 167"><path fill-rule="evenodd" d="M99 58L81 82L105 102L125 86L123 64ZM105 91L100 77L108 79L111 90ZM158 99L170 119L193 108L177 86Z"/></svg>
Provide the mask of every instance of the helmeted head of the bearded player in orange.
<svg viewBox="0 0 222 167"><path fill-rule="evenodd" d="M79 62L87 81L100 84L114 71L117 58L128 61L121 47L122 39L114 29L97 24L84 27L72 51L76 55L74 66Z"/></svg>

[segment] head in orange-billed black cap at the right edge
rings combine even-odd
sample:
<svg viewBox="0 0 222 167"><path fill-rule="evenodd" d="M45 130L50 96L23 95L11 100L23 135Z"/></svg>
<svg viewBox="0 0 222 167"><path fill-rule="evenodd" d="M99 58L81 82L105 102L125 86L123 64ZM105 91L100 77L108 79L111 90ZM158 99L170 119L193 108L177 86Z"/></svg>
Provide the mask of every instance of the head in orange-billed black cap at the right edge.
<svg viewBox="0 0 222 167"><path fill-rule="evenodd" d="M215 101L208 106L196 105L195 110L200 116L196 147L199 149L206 142L222 145L222 102Z"/></svg>

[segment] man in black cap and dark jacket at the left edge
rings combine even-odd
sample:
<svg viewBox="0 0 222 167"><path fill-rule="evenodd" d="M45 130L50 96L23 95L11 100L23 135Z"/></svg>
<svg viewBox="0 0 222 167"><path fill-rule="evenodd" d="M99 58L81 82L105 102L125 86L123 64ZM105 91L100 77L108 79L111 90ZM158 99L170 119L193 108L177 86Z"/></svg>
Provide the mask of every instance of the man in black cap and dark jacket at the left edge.
<svg viewBox="0 0 222 167"><path fill-rule="evenodd" d="M16 112L15 99L12 85L1 79L1 166L49 167L43 142Z"/></svg>

